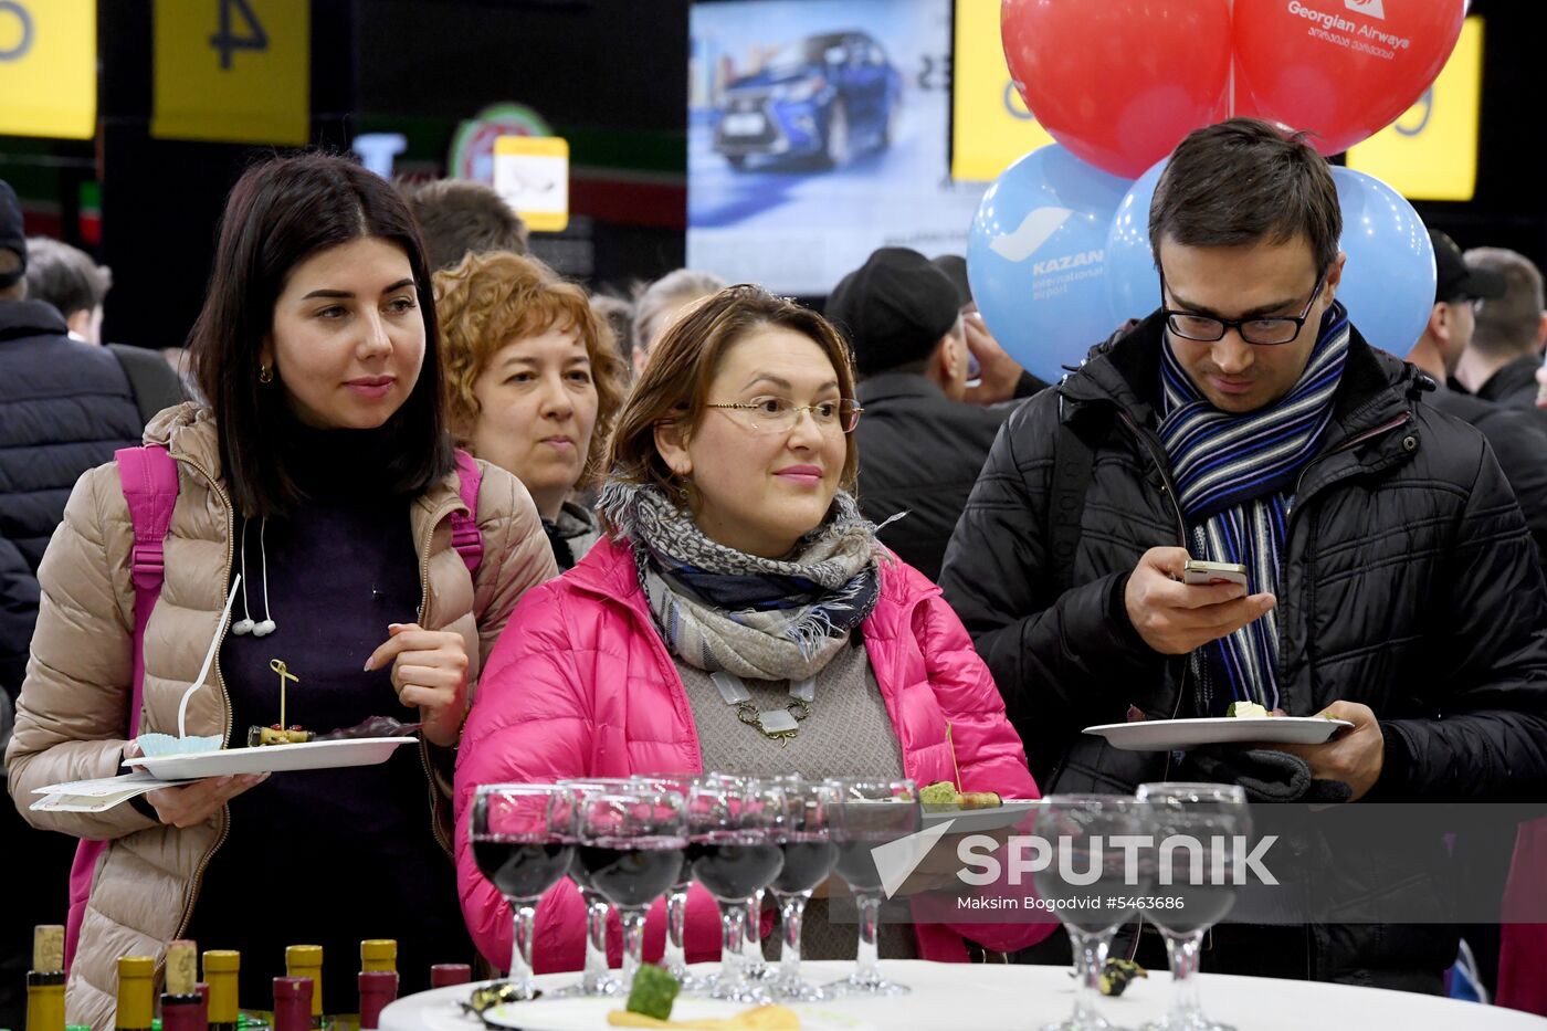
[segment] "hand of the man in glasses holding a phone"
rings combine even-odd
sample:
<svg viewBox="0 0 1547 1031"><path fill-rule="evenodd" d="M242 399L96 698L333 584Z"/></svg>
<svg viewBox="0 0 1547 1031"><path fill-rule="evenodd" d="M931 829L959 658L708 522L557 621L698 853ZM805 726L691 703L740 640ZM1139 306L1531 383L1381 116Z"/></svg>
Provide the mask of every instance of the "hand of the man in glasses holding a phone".
<svg viewBox="0 0 1547 1031"><path fill-rule="evenodd" d="M1244 571L1236 582L1231 567L1194 567L1193 577L1205 582L1188 584L1190 560L1185 548L1151 548L1139 559L1123 591L1134 630L1162 655L1187 655L1261 619L1278 604L1272 594L1247 594Z"/></svg>

